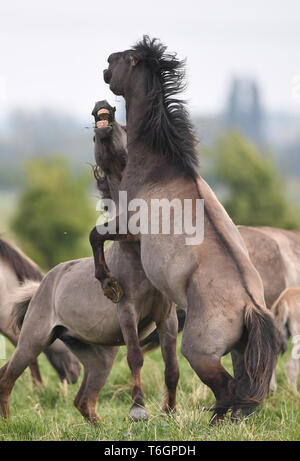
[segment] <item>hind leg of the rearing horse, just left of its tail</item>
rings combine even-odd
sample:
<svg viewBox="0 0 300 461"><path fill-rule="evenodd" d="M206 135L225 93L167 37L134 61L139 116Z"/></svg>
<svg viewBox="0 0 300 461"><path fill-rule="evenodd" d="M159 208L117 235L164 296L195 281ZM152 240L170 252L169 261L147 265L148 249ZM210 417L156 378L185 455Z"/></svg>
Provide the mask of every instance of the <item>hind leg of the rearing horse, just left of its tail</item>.
<svg viewBox="0 0 300 461"><path fill-rule="evenodd" d="M234 402L237 383L222 366L221 358L241 332L241 319L230 318L223 309L215 309L212 316L209 290L203 295L197 280L190 285L181 352L216 398L211 424L222 421Z"/></svg>

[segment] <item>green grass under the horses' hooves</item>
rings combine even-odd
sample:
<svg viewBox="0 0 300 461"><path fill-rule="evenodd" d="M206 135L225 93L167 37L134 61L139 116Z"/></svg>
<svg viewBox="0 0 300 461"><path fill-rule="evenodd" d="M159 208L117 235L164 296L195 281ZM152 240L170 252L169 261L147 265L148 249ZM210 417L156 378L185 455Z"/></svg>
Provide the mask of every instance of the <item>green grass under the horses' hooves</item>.
<svg viewBox="0 0 300 461"><path fill-rule="evenodd" d="M7 345L8 356L13 348ZM83 420L73 406L76 385L62 385L44 358L39 358L44 387L33 389L29 371L19 378L11 396L11 417L0 421L0 440L300 440L300 394L288 385L281 357L277 369L278 391L268 397L248 420L231 423L229 417L217 426L209 426L214 403L211 391L202 384L178 351L180 383L177 413L166 416L161 411L163 397L163 363L160 351L145 357L143 387L150 419L132 423L128 419L131 405L131 376L125 348L117 357L112 373L98 400L102 423L95 427ZM0 360L2 366L5 362ZM229 357L224 365L231 371Z"/></svg>

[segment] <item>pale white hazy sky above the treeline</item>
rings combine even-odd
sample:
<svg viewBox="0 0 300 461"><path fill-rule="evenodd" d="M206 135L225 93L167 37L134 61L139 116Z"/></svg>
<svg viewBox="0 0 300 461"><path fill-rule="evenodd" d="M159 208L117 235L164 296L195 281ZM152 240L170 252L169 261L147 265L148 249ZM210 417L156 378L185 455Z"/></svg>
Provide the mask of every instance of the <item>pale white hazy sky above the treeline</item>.
<svg viewBox="0 0 300 461"><path fill-rule="evenodd" d="M193 113L223 108L234 75L255 77L268 109L300 112L299 0L1 0L0 114L50 107L89 119L115 102L102 79L111 52L148 33L187 57Z"/></svg>

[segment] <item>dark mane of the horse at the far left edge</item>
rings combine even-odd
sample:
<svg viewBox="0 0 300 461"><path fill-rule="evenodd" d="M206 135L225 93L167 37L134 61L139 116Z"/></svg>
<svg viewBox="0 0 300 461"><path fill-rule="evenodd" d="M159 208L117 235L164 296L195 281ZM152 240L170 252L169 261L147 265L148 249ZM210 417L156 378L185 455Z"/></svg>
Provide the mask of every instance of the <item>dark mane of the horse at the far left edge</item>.
<svg viewBox="0 0 300 461"><path fill-rule="evenodd" d="M0 258L9 264L20 283L25 280L40 281L43 274L38 266L22 253L19 248L0 239Z"/></svg>

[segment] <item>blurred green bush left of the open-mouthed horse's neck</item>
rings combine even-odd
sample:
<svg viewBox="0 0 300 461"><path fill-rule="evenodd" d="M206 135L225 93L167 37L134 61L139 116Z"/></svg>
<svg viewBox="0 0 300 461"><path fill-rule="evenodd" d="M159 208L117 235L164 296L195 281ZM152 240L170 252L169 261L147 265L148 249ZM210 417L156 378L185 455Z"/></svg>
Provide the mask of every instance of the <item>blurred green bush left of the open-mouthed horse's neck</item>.
<svg viewBox="0 0 300 461"><path fill-rule="evenodd" d="M91 175L78 177L64 158L51 156L28 162L26 180L11 223L24 251L44 269L90 255Z"/></svg>

